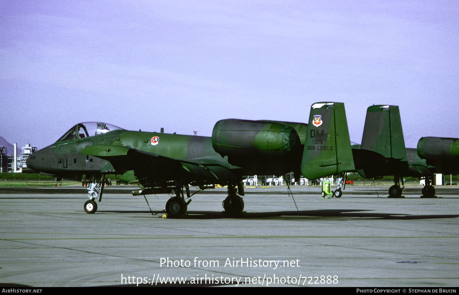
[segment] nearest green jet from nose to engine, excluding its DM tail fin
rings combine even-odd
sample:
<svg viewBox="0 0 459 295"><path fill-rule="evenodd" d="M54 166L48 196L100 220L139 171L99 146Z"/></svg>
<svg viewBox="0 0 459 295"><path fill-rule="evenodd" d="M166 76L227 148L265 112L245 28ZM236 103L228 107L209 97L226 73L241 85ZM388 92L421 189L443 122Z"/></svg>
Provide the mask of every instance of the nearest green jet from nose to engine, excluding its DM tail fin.
<svg viewBox="0 0 459 295"><path fill-rule="evenodd" d="M212 137L202 137L84 122L32 153L27 166L58 178L81 181L85 175L91 179L84 204L87 213L97 210L95 200L101 201L105 175L120 174L120 179L140 184L133 195L174 192L166 204L169 217L187 211L189 185L228 185L224 210L237 214L244 208L239 196L244 195L244 175L293 171L300 178L306 128L304 123L226 119L215 124Z"/></svg>

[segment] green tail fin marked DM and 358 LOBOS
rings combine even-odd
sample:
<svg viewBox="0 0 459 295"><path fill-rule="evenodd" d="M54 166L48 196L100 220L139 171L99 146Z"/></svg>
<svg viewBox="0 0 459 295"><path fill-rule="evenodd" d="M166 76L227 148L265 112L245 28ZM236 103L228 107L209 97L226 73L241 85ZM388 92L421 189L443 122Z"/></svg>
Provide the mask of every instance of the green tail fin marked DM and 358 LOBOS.
<svg viewBox="0 0 459 295"><path fill-rule="evenodd" d="M346 112L341 102L311 106L301 172L317 179L355 170Z"/></svg>

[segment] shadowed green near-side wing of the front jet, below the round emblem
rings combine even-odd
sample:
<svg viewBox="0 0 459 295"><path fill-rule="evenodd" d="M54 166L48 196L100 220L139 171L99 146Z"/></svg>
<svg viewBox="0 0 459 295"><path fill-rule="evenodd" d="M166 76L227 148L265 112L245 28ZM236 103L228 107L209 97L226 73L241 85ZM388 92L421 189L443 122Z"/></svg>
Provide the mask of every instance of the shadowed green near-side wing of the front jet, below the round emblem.
<svg viewBox="0 0 459 295"><path fill-rule="evenodd" d="M121 145L94 145L84 148L83 153L109 161L119 173L135 170L162 180L175 179L177 175L214 181L237 180L234 169L207 159L179 160ZM110 172L110 168L106 166L102 172Z"/></svg>

